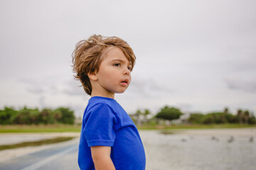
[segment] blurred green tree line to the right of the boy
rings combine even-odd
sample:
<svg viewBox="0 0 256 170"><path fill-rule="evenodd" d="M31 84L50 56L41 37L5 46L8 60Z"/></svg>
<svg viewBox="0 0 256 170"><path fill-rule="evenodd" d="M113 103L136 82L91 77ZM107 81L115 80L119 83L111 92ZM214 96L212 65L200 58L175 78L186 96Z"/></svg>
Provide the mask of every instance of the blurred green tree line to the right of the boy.
<svg viewBox="0 0 256 170"><path fill-rule="evenodd" d="M156 113L156 115L151 116L148 109L143 111L137 110L133 115L130 115L134 123L141 125L142 123L156 122L159 123L159 120L177 120L181 118L181 115L184 113L180 109L164 106L161 110ZM224 111L212 112L207 114L202 113L191 113L188 118L183 118L181 123L190 123L190 124L220 124L220 123L240 123L245 125L254 125L256 124L256 118L253 113L249 111L238 110L236 114L232 114L228 111L228 108L225 108Z"/></svg>

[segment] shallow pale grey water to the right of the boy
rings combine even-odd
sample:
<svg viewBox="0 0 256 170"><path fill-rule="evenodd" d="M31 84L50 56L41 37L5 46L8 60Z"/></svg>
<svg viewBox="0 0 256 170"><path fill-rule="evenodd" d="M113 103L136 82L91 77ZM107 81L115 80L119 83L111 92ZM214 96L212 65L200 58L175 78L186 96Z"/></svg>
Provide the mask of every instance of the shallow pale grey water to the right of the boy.
<svg viewBox="0 0 256 170"><path fill-rule="evenodd" d="M140 131L146 170L255 170L256 145L247 136L163 135Z"/></svg>

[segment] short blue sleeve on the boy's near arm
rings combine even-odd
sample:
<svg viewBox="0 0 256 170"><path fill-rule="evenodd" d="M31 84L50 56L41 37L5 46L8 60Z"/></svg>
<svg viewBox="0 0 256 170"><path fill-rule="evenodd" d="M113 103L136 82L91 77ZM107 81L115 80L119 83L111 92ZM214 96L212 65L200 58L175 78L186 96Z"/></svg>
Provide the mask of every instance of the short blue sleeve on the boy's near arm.
<svg viewBox="0 0 256 170"><path fill-rule="evenodd" d="M89 147L114 145L114 113L105 103L98 103L85 115L83 132Z"/></svg>

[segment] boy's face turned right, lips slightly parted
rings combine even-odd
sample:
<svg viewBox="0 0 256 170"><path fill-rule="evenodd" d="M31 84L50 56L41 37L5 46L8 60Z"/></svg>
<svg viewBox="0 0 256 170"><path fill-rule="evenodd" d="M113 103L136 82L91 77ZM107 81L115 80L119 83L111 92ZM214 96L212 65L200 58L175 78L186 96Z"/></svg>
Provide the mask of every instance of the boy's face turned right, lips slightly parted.
<svg viewBox="0 0 256 170"><path fill-rule="evenodd" d="M97 86L92 87L92 91L97 90L102 96L114 98L114 94L124 93L129 86L132 64L118 47L109 47L106 51L95 75Z"/></svg>

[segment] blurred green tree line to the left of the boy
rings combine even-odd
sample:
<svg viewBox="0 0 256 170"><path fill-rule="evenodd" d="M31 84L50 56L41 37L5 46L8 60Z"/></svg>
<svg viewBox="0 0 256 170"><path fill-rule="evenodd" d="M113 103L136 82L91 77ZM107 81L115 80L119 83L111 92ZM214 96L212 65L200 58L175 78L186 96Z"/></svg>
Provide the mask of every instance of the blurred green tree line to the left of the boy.
<svg viewBox="0 0 256 170"><path fill-rule="evenodd" d="M74 111L70 108L26 108L20 110L5 107L0 110L0 125L39 125L39 124L75 123Z"/></svg>

